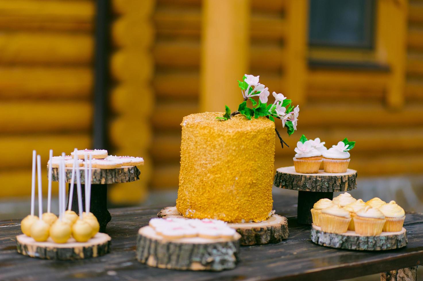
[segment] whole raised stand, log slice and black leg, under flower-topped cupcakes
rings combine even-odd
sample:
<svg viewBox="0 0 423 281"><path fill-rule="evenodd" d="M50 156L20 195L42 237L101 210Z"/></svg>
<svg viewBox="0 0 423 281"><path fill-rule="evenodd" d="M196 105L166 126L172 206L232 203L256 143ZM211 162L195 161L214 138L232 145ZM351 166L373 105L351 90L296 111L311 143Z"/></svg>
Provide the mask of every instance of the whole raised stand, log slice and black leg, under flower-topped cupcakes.
<svg viewBox="0 0 423 281"><path fill-rule="evenodd" d="M299 224L312 224L310 210L322 198L333 198L333 192L350 191L357 188L357 171L347 169L345 173L317 174L295 172L294 166L276 169L273 184L279 188L298 191L297 221Z"/></svg>

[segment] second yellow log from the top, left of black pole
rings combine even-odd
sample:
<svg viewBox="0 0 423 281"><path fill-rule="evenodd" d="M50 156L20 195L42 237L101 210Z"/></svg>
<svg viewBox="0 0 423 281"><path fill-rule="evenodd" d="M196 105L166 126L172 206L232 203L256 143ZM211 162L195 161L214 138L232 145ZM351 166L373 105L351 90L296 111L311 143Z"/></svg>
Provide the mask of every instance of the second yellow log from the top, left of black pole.
<svg viewBox="0 0 423 281"><path fill-rule="evenodd" d="M0 63L88 64L93 38L88 34L9 32L0 34Z"/></svg>

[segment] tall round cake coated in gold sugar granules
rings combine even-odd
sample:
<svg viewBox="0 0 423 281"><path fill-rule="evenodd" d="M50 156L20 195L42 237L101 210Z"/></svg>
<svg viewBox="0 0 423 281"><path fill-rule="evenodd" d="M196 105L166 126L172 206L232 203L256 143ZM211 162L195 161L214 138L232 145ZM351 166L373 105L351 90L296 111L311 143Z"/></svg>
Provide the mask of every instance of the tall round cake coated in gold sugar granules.
<svg viewBox="0 0 423 281"><path fill-rule="evenodd" d="M184 117L176 208L187 218L231 223L272 215L275 123L222 112Z"/></svg>

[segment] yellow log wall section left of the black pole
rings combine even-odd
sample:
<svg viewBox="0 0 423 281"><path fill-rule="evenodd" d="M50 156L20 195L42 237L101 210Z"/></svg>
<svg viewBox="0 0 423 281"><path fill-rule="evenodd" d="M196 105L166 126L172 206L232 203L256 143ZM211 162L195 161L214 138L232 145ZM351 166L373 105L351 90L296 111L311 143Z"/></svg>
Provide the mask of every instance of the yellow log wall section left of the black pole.
<svg viewBox="0 0 423 281"><path fill-rule="evenodd" d="M90 147L93 18L93 0L0 0L0 198L30 195L33 149Z"/></svg>

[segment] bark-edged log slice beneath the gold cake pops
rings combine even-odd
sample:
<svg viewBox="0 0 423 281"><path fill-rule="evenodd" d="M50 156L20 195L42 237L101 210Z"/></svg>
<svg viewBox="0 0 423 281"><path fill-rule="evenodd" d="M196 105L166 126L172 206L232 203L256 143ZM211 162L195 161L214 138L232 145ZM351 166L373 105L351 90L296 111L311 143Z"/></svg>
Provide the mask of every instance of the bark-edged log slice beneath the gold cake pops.
<svg viewBox="0 0 423 281"><path fill-rule="evenodd" d="M16 236L16 248L19 254L40 259L74 260L104 256L110 252L109 235L97 233L85 243L70 238L67 243L54 243L51 238L46 242L37 242L21 234Z"/></svg>

